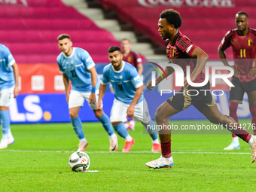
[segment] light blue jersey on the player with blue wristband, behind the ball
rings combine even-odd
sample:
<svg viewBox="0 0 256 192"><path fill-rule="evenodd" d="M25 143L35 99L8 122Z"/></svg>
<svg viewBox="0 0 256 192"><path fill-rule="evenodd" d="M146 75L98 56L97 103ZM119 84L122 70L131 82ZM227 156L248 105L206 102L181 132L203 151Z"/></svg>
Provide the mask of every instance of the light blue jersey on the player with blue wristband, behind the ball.
<svg viewBox="0 0 256 192"><path fill-rule="evenodd" d="M90 54L79 47L73 47L70 56L63 52L57 57L59 71L66 73L72 82L72 90L89 93L92 90L92 75L88 71L95 66ZM96 90L99 89L99 78L97 75Z"/></svg>

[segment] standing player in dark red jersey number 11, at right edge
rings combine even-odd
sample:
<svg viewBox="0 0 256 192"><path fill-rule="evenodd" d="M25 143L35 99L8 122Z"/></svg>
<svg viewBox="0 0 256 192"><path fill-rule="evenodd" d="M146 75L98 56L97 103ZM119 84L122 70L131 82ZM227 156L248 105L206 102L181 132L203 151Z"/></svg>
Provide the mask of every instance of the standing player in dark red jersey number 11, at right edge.
<svg viewBox="0 0 256 192"><path fill-rule="evenodd" d="M242 103L242 98L246 92L248 95L249 108L251 111L251 127L256 126L256 30L248 28L248 15L244 11L236 14L236 27L224 36L218 47L218 55L225 66L230 66L226 59L225 50L228 47L233 49L234 75L231 83L235 87L230 87L230 117L238 122L236 114L237 106ZM256 135L256 130L253 130ZM224 148L224 150L239 149L240 144L238 137L232 134L233 141Z"/></svg>

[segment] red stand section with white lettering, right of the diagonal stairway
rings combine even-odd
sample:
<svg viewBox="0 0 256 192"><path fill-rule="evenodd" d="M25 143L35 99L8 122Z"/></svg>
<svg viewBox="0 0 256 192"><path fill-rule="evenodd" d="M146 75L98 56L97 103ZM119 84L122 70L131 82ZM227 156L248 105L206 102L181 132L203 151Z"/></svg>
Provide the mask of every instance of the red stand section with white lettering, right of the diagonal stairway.
<svg viewBox="0 0 256 192"><path fill-rule="evenodd" d="M162 11L173 8L179 11L183 20L181 32L197 44L210 59L218 59L218 45L226 32L235 29L235 14L245 11L249 16L249 27L256 26L255 1L149 1L149 0L96 0L106 10L115 11L122 20L151 38L151 41L165 46L157 32L157 21ZM230 50L227 57L232 58Z"/></svg>

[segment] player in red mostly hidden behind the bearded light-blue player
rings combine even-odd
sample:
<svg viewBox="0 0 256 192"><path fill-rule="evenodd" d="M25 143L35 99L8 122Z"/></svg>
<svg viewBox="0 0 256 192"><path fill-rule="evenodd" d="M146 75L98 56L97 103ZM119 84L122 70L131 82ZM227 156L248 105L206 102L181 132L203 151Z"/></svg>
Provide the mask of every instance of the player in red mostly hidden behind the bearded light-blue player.
<svg viewBox="0 0 256 192"><path fill-rule="evenodd" d="M123 61L129 62L131 65L135 66L139 76L142 78L142 72L143 72L142 57L139 55L139 53L136 53L131 50L131 44L128 38L122 39L121 47L122 47L122 53L123 53ZM130 117L130 121L127 118L127 122L124 123L124 126L126 127L127 130L135 130L134 118Z"/></svg>

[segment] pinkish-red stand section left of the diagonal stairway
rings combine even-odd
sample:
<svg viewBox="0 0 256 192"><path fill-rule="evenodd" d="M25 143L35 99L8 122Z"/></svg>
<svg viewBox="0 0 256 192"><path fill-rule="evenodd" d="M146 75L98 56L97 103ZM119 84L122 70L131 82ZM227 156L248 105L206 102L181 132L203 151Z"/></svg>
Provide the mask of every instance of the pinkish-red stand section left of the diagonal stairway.
<svg viewBox="0 0 256 192"><path fill-rule="evenodd" d="M0 42L18 63L56 63L56 38L71 35L74 47L87 50L95 62L108 62L108 47L120 43L92 20L60 0L1 1Z"/></svg>

